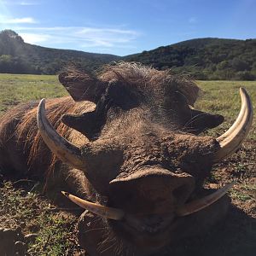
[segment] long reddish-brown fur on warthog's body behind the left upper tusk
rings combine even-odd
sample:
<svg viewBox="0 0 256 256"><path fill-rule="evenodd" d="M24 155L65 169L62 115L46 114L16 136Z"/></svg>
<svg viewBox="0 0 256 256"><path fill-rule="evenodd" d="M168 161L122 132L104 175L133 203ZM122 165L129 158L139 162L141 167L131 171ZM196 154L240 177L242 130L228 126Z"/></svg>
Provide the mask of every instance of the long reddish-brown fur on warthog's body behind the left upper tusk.
<svg viewBox="0 0 256 256"><path fill-rule="evenodd" d="M73 143L84 143L84 136L61 123L61 115L90 111L95 108L95 105L91 102L85 104L84 102L73 102L70 96L48 100L46 104L49 120L55 124L55 129L61 136ZM15 150L11 153L13 160L10 160L8 156L3 157L7 160L4 161L4 164L0 162L0 165L4 166L4 169L20 171L19 166L15 166L15 162L17 163L22 158L22 166L24 166L22 169L27 173L26 175L39 178L45 175L49 176L49 172L54 171L59 160L49 151L38 132L38 108L35 108L37 106L38 102L20 105L3 115L3 122L0 126L0 152L3 152L1 154L4 155L4 152L9 151L9 144L14 145Z"/></svg>

